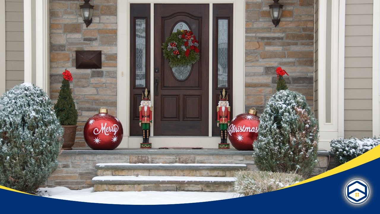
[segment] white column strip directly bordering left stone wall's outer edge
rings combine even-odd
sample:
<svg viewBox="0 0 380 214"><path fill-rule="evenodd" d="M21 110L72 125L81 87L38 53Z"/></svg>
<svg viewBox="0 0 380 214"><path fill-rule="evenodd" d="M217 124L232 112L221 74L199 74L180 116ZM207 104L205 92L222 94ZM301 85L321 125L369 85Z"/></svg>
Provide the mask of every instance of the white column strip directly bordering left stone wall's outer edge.
<svg viewBox="0 0 380 214"><path fill-rule="evenodd" d="M49 94L49 0L36 1L36 85Z"/></svg>

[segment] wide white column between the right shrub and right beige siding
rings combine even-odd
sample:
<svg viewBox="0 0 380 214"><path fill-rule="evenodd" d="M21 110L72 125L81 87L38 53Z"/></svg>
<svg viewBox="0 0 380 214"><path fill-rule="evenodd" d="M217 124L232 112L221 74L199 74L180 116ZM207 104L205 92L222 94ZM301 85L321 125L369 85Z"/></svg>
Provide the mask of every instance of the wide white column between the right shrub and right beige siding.
<svg viewBox="0 0 380 214"><path fill-rule="evenodd" d="M329 15L327 13L328 6L331 7L331 25L327 23L327 16ZM342 128L342 124L338 126L339 121L342 121L342 117L344 117L342 112L338 112L338 109L341 110L343 107L343 104L339 102L339 100L341 101L341 96L344 96L344 91L342 93L342 87L344 87L342 84L344 83L338 83L339 78L344 78L341 77L342 70L340 70L340 72L338 70L339 65L342 63L338 61L339 1L330 2L328 0L319 0L318 10L318 122L320 128L319 147L320 149L329 150L329 142L331 139L336 139L340 137L340 134L343 133L343 131L340 130ZM327 27L331 27L331 29L327 29ZM331 32L331 37L330 35L326 35L326 32L328 31ZM328 41L330 39L331 42ZM326 53L331 53L330 59L326 59ZM344 52L342 54L344 54ZM329 60L328 63L326 63L327 60ZM337 70L338 72L336 72ZM329 72L328 76L326 76L326 71ZM340 76L338 76L339 74ZM326 77L329 78L328 80L331 82L326 81ZM329 82L330 84L326 85ZM338 94L339 92L340 95Z"/></svg>

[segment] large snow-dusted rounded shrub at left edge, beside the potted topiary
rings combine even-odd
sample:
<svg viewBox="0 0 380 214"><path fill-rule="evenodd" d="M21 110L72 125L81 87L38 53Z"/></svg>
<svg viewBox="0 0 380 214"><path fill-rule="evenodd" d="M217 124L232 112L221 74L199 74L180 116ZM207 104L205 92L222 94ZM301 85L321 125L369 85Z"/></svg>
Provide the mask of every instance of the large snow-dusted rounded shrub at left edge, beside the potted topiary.
<svg viewBox="0 0 380 214"><path fill-rule="evenodd" d="M30 83L0 98L0 185L33 192L57 167L63 129L52 106Z"/></svg>

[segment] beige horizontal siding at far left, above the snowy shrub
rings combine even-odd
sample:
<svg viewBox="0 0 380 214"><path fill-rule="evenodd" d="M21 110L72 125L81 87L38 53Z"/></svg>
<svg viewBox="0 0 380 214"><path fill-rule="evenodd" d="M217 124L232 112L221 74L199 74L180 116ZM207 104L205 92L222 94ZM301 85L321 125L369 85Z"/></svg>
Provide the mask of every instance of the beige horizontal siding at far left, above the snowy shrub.
<svg viewBox="0 0 380 214"><path fill-rule="evenodd" d="M5 0L5 89L24 81L24 1Z"/></svg>

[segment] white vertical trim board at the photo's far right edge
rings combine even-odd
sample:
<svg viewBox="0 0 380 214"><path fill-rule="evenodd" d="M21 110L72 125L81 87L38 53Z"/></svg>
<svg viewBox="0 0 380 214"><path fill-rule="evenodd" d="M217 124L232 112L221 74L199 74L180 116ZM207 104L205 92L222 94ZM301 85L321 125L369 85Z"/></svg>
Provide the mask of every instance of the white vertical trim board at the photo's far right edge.
<svg viewBox="0 0 380 214"><path fill-rule="evenodd" d="M380 1L374 0L372 24L372 136L380 135L379 63L380 63Z"/></svg>

